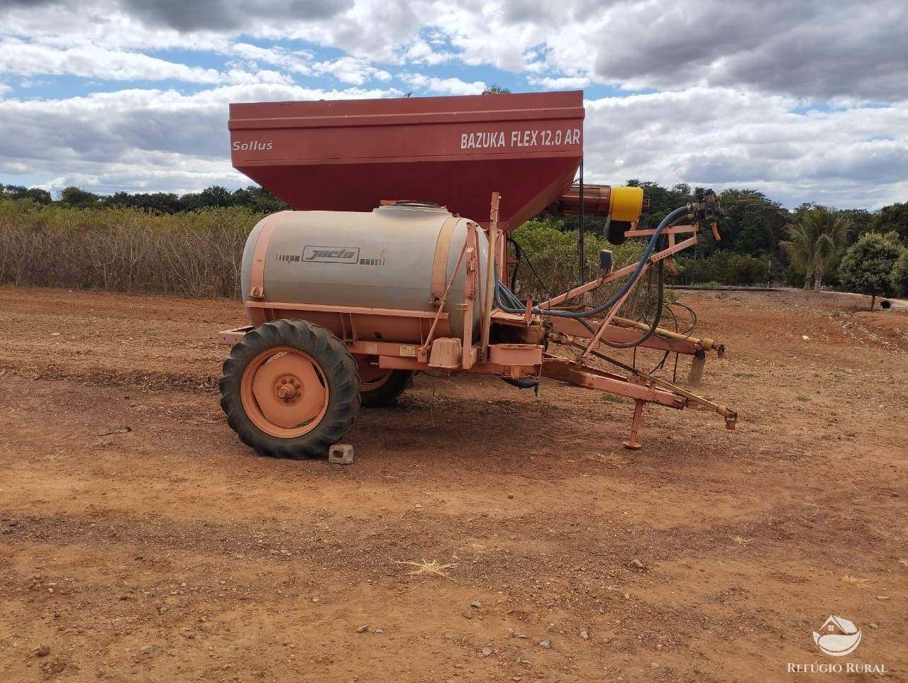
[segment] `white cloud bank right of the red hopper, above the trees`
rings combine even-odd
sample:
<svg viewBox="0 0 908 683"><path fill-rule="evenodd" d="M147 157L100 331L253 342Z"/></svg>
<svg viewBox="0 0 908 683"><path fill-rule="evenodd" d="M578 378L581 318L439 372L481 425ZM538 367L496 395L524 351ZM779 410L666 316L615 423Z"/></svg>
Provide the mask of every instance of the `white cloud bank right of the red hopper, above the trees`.
<svg viewBox="0 0 908 683"><path fill-rule="evenodd" d="M587 101L587 179L748 187L788 205L904 201L908 102L793 114L799 104L707 87Z"/></svg>

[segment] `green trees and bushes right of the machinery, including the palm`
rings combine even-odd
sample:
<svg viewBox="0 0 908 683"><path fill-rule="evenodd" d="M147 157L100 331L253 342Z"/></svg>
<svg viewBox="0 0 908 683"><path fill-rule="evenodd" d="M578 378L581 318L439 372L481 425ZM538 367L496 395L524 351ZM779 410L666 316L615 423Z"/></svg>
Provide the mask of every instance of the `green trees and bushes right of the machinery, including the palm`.
<svg viewBox="0 0 908 683"><path fill-rule="evenodd" d="M655 228L668 213L694 200L694 188L685 183L664 187L631 179L626 184L642 187L650 199L650 211L641 217L641 227ZM908 203L893 203L875 212L804 203L788 211L764 193L725 190L722 208L725 215L716 226L720 241L711 231L699 233L696 246L676 258L675 282L784 282L814 289L832 286L871 295L908 295L897 285L908 262L895 266L902 250L908 247ZM537 221L562 230L577 229L576 216L539 217ZM599 219L587 219L587 231L601 234L601 224ZM880 247L881 241L892 248ZM856 257L845 260L849 250L853 254L873 251L873 277L856 277Z"/></svg>

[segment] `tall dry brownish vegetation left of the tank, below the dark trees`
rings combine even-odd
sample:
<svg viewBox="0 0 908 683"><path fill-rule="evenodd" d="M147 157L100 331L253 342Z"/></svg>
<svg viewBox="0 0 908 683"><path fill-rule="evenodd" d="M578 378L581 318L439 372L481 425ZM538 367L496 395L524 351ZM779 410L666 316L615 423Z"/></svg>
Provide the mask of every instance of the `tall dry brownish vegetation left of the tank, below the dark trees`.
<svg viewBox="0 0 908 683"><path fill-rule="evenodd" d="M0 282L234 297L260 217L236 207L156 215L0 202Z"/></svg>

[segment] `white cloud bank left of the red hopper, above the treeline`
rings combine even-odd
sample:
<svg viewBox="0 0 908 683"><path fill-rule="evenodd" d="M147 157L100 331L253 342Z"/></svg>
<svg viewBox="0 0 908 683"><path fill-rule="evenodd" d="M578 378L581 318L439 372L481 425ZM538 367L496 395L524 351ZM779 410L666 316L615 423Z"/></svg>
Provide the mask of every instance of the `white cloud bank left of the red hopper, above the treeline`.
<svg viewBox="0 0 908 683"><path fill-rule="evenodd" d="M48 181L53 187L77 184L100 193L239 186L248 181L231 168L229 104L387 96L400 91L234 84L189 95L123 90L60 100L4 99L0 174L44 175L54 179Z"/></svg>

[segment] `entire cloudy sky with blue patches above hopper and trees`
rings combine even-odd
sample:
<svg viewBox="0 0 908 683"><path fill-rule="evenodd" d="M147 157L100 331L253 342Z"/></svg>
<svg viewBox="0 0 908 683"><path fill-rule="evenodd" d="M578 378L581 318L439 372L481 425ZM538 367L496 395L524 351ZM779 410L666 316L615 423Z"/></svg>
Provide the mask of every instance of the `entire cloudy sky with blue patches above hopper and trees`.
<svg viewBox="0 0 908 683"><path fill-rule="evenodd" d="M227 105L583 89L587 181L908 201L905 0L2 0L0 183L248 184Z"/></svg>

